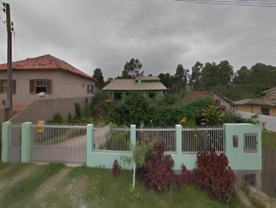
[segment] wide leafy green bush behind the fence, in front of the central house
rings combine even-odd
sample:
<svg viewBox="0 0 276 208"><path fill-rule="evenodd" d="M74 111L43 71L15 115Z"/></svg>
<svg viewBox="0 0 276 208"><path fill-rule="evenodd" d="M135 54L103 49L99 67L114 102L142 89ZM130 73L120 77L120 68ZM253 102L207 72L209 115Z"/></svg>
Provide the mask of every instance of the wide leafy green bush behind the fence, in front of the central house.
<svg viewBox="0 0 276 208"><path fill-rule="evenodd" d="M117 125L175 125L184 117L199 124L199 112L210 104L213 101L208 97L181 103L178 95L152 101L143 94L130 94L124 103L112 105L109 116Z"/></svg>

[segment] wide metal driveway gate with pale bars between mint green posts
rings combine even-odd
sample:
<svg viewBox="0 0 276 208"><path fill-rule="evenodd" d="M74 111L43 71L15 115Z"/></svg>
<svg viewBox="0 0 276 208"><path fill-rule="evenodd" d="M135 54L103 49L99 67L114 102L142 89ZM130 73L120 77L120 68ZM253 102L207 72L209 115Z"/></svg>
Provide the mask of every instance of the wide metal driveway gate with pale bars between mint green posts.
<svg viewBox="0 0 276 208"><path fill-rule="evenodd" d="M32 161L86 163L86 126L32 125Z"/></svg>

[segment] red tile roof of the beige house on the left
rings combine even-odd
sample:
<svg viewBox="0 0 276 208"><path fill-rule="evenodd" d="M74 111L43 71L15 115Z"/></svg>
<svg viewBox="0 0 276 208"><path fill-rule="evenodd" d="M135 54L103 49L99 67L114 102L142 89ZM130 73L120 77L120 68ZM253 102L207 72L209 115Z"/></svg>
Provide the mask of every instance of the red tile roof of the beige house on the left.
<svg viewBox="0 0 276 208"><path fill-rule="evenodd" d="M0 64L0 71L2 70L7 70L6 63ZM22 61L14 61L12 62L12 70L64 70L93 79L92 76L81 72L81 70L78 70L69 63L62 61L61 59L57 59L55 56L51 56L49 54L38 56L36 58L28 58Z"/></svg>

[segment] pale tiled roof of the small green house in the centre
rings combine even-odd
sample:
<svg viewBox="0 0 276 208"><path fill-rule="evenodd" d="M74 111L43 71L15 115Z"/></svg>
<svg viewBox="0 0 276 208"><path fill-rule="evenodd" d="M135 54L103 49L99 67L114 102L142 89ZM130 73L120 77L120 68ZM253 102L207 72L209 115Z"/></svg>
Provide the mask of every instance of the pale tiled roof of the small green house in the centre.
<svg viewBox="0 0 276 208"><path fill-rule="evenodd" d="M154 76L155 78L155 76ZM115 79L102 90L106 91L155 91L155 90L167 90L167 87L163 85L159 79L150 79L144 76L144 80L154 80L154 82L141 82L138 83L137 79Z"/></svg>

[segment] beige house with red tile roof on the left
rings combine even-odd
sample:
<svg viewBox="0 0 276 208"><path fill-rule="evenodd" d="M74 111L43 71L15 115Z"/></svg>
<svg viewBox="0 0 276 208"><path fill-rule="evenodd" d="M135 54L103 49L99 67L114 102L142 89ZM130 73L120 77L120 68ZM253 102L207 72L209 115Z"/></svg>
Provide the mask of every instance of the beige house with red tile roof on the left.
<svg viewBox="0 0 276 208"><path fill-rule="evenodd" d="M0 64L0 99L6 99L7 65ZM35 100L89 97L95 79L51 55L12 62L12 103L21 110Z"/></svg>

